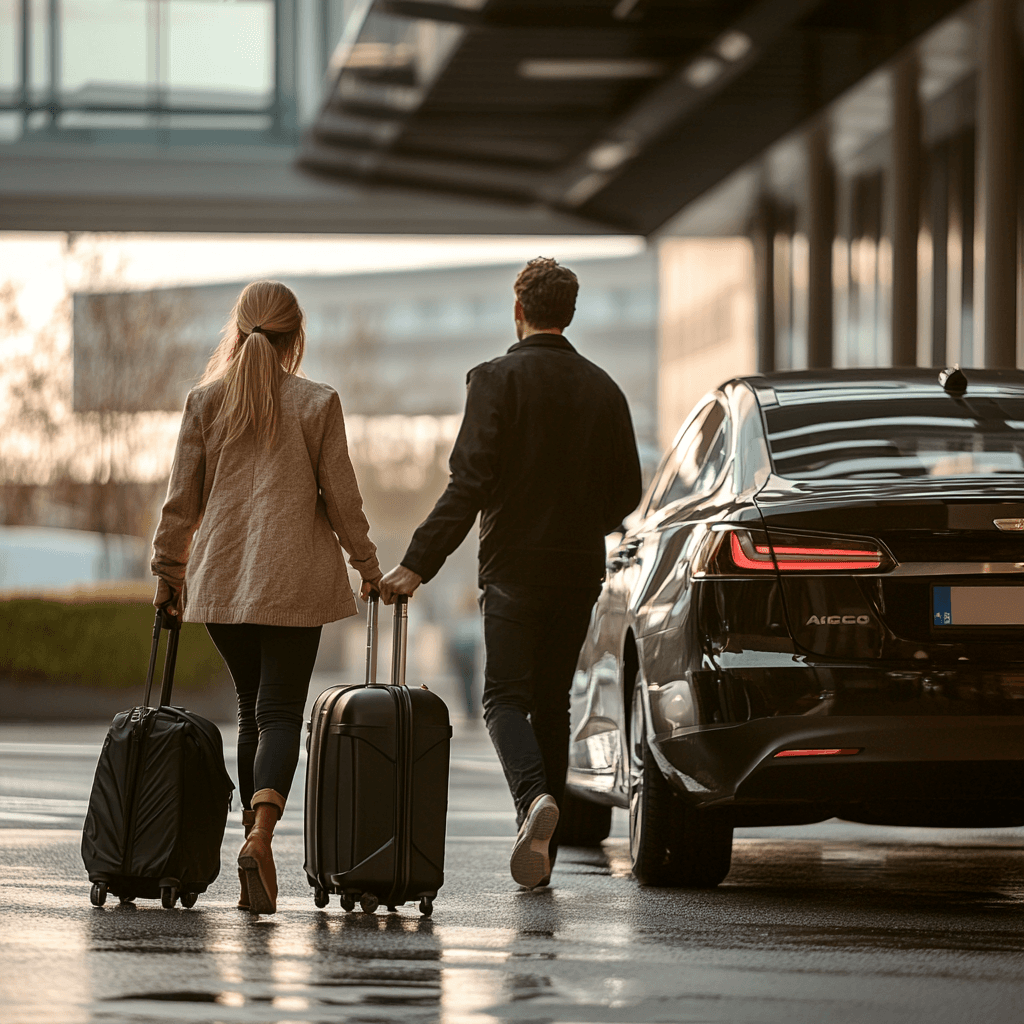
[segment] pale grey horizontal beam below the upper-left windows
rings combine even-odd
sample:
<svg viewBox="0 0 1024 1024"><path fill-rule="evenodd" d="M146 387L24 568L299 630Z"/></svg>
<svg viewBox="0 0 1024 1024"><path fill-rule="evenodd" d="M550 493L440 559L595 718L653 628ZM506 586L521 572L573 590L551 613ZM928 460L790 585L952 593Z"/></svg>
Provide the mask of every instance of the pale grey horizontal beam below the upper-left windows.
<svg viewBox="0 0 1024 1024"><path fill-rule="evenodd" d="M240 152L241 151L241 152ZM323 181L291 151L0 146L0 230L252 233L586 234L594 224L535 206Z"/></svg>

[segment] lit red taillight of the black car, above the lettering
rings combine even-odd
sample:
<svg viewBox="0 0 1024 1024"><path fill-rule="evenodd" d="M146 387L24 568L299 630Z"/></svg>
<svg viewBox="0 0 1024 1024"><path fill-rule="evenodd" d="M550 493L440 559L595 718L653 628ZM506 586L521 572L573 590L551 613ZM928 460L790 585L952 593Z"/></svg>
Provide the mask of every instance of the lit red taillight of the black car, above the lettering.
<svg viewBox="0 0 1024 1024"><path fill-rule="evenodd" d="M891 569L895 562L868 538L827 537L730 526L717 531L706 559L716 574L749 572L857 572Z"/></svg>

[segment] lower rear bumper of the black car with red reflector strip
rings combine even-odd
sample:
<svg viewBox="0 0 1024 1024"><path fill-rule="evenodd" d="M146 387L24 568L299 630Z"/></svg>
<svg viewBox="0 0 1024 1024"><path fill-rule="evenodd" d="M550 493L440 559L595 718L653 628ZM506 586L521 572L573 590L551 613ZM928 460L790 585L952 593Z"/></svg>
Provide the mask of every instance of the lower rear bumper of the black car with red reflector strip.
<svg viewBox="0 0 1024 1024"><path fill-rule="evenodd" d="M1017 716L758 719L654 737L652 746L689 802L731 807L737 824L1024 823ZM783 750L857 753L776 757Z"/></svg>

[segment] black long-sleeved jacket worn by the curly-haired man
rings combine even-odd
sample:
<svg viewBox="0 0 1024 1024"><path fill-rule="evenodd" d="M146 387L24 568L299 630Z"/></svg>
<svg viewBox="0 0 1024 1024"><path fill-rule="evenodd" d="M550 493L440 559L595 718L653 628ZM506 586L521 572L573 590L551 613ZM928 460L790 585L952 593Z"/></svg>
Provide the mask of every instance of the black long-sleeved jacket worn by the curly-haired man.
<svg viewBox="0 0 1024 1024"><path fill-rule="evenodd" d="M556 334L535 334L467 378L451 480L401 564L436 575L480 514L480 585L591 587L604 537L640 502L626 396Z"/></svg>

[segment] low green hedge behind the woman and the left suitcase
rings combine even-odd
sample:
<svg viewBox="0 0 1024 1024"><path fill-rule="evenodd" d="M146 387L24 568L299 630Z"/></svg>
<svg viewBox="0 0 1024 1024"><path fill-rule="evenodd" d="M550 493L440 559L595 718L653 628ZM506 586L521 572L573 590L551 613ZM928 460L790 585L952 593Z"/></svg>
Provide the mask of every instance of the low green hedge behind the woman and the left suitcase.
<svg viewBox="0 0 1024 1024"><path fill-rule="evenodd" d="M141 686L153 643L153 605L0 601L0 678L111 689ZM157 682L163 670L163 648ZM226 676L206 628L181 627L175 688L200 688Z"/></svg>

